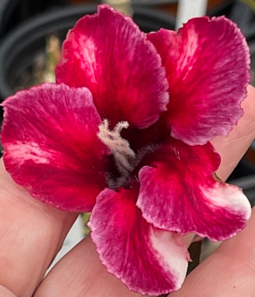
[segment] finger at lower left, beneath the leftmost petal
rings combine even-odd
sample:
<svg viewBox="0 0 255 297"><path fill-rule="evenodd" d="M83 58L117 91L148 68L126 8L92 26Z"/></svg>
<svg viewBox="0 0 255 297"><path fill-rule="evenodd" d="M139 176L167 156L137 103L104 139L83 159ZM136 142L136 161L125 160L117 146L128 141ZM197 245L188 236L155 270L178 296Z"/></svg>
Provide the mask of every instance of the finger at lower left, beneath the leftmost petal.
<svg viewBox="0 0 255 297"><path fill-rule="evenodd" d="M31 198L0 160L0 284L32 296L76 216Z"/></svg>

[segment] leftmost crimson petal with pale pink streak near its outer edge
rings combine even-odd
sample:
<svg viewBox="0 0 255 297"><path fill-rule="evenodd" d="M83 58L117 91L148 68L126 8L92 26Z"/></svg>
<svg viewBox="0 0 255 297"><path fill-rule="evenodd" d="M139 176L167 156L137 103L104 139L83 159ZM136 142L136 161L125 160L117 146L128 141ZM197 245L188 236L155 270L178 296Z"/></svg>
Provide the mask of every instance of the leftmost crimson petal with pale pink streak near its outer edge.
<svg viewBox="0 0 255 297"><path fill-rule="evenodd" d="M105 187L106 153L90 91L44 84L2 105L3 159L15 182L61 210L90 211Z"/></svg>

